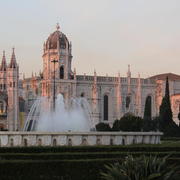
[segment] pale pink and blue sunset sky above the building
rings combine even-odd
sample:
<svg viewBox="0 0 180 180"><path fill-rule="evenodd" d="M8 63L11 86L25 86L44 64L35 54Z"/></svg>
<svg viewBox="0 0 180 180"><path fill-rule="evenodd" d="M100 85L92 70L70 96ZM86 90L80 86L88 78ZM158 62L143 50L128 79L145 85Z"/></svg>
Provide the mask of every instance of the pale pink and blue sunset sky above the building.
<svg viewBox="0 0 180 180"><path fill-rule="evenodd" d="M180 74L180 0L0 0L0 58L20 76L42 70L43 43L60 24L77 74Z"/></svg>

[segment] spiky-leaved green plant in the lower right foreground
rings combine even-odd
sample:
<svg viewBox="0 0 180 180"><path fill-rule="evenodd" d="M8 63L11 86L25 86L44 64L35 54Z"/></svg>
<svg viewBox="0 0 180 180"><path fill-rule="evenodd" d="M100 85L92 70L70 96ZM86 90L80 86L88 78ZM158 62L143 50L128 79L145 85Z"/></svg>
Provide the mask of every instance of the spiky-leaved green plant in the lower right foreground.
<svg viewBox="0 0 180 180"><path fill-rule="evenodd" d="M175 180L178 179L179 167L167 164L168 156L127 156L121 163L105 165L106 172L101 172L104 180Z"/></svg>

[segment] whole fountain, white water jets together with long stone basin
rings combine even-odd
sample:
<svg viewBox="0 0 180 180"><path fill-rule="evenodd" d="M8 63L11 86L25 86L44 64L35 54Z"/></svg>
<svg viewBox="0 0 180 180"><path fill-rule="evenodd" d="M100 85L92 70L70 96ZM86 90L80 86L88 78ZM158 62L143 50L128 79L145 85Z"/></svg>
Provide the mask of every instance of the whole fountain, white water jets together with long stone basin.
<svg viewBox="0 0 180 180"><path fill-rule="evenodd" d="M53 98L54 99L54 98ZM34 102L23 132L0 132L0 147L95 146L159 144L161 132L96 132L87 100L83 97L55 101L40 97ZM94 130L94 131L92 131Z"/></svg>

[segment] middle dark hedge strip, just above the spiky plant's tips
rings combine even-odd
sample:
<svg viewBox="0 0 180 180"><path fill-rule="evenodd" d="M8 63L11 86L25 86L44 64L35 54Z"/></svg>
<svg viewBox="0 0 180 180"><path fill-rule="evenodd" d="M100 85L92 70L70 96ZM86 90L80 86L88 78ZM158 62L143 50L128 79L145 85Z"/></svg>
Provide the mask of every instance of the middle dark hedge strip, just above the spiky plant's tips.
<svg viewBox="0 0 180 180"><path fill-rule="evenodd" d="M124 158L132 154L133 156L154 155L164 157L170 155L172 158L180 158L180 152L96 152L96 153L39 153L39 154L20 154L3 153L0 154L0 160L73 160L73 159L108 159Z"/></svg>

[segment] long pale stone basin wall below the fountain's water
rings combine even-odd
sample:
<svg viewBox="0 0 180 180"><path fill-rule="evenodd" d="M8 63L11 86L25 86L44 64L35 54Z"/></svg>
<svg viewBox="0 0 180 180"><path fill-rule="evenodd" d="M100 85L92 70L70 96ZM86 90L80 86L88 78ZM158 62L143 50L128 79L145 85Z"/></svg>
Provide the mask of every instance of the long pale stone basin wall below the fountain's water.
<svg viewBox="0 0 180 180"><path fill-rule="evenodd" d="M159 144L161 132L0 132L0 147Z"/></svg>

